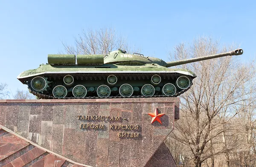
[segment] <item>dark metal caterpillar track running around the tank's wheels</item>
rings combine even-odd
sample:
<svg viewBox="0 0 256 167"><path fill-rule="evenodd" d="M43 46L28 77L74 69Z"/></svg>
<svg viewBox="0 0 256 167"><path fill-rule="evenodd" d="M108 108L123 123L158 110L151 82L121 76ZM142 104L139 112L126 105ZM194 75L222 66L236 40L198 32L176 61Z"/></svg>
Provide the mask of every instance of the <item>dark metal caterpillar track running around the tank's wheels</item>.
<svg viewBox="0 0 256 167"><path fill-rule="evenodd" d="M86 78L86 80L89 78L92 79L92 78L102 78L102 79L106 79L108 77L108 75L116 75L117 77L121 77L122 78L150 78L149 76L151 75L155 75L157 73L134 73L134 74L128 74L128 73L104 73L104 74L75 74L74 78ZM64 77L65 75L70 75L70 74L47 74L46 77L47 78L62 78ZM72 75L72 74L71 74ZM158 74L159 75L159 74ZM162 74L163 75L163 74ZM164 78L176 78L178 76L181 76L181 74L179 73L164 73ZM140 80L140 79L138 79ZM37 96L38 98L41 98L41 99L100 99L100 98L160 98L160 97L177 97L181 94L183 94L184 92L186 92L187 90L190 89L190 87L192 86L192 79L191 79L191 83L189 85L189 87L187 87L186 89L183 89L181 90L180 92L177 92L175 95L152 95L152 96L143 96L143 95L132 95L132 96L109 96L109 97L98 97L98 96L89 96L89 97L84 97L84 98L76 98L76 97L65 97L65 98L55 98L54 96L51 96L51 95L45 95L43 93L39 93L39 92L35 92L34 90L31 89L30 87L30 84L28 84L28 89L29 89L29 92L32 93L33 95Z"/></svg>

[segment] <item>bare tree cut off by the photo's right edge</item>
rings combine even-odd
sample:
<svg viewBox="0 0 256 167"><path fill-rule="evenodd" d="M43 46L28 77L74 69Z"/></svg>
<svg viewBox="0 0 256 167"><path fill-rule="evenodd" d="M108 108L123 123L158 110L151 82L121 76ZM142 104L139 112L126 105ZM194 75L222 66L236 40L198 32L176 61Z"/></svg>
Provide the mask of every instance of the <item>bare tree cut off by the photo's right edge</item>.
<svg viewBox="0 0 256 167"><path fill-rule="evenodd" d="M250 68L253 69L253 77L244 83L241 92L241 103L235 106L236 110L242 110L236 118L236 124L240 127L239 134L241 135L239 150L236 151L237 157L233 157L233 161L238 166L256 166L256 76L255 63L250 63ZM250 65L248 63L247 66Z"/></svg>

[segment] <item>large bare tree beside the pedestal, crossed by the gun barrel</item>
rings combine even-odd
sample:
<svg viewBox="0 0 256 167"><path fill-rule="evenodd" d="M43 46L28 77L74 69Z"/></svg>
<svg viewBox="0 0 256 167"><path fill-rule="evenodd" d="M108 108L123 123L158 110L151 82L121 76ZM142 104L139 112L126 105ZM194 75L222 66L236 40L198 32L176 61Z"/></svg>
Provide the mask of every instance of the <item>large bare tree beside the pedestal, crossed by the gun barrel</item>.
<svg viewBox="0 0 256 167"><path fill-rule="evenodd" d="M184 44L176 46L171 56L180 60L230 49L233 47L220 49L218 41L200 37L189 47ZM182 67L194 71L197 78L191 89L180 96L180 120L175 123L171 137L189 148L195 167L201 167L209 158L210 166L213 167L215 155L230 151L231 147L219 147L221 143L215 139L223 132L233 130L228 121L240 111L232 108L244 100L240 92L243 83L251 77L248 73L250 69L230 56L185 64ZM220 121L220 117L226 119Z"/></svg>

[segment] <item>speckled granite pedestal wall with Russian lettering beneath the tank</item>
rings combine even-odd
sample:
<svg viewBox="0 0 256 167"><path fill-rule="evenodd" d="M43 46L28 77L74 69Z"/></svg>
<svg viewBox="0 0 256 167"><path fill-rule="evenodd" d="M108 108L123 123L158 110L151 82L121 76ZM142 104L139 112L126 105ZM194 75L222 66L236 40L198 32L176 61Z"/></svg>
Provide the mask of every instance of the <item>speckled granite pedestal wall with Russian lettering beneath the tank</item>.
<svg viewBox="0 0 256 167"><path fill-rule="evenodd" d="M179 98L0 100L0 125L83 166L175 166L163 141L177 119Z"/></svg>

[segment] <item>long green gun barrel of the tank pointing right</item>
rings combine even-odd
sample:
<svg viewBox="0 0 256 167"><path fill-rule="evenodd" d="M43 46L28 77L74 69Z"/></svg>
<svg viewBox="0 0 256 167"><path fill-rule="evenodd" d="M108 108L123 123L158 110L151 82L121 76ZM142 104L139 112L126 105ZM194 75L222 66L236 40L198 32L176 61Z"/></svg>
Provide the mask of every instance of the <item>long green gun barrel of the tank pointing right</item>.
<svg viewBox="0 0 256 167"><path fill-rule="evenodd" d="M177 66L177 65L186 64L186 63L193 63L196 61L208 60L208 59L212 59L212 58L220 58L220 57L224 57L224 56L233 56L233 55L241 55L241 54L243 54L243 49L236 49L236 50L233 50L230 52L225 52L225 53L220 53L220 54L215 54L215 55L167 62L166 67Z"/></svg>

